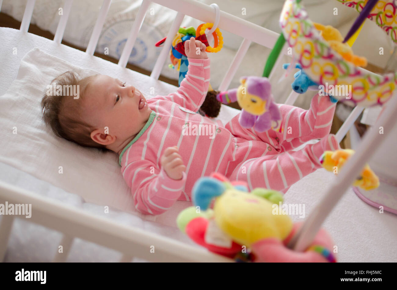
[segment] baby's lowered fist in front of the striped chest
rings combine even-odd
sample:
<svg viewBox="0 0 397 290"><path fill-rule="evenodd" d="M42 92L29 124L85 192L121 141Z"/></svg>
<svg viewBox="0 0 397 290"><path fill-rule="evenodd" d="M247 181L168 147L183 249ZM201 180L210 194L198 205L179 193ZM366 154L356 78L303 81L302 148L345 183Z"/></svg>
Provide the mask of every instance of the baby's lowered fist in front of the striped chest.
<svg viewBox="0 0 397 290"><path fill-rule="evenodd" d="M182 172L185 172L186 166L183 164L182 156L179 155L178 147L166 148L161 156L160 163L168 177L175 180L182 179Z"/></svg>

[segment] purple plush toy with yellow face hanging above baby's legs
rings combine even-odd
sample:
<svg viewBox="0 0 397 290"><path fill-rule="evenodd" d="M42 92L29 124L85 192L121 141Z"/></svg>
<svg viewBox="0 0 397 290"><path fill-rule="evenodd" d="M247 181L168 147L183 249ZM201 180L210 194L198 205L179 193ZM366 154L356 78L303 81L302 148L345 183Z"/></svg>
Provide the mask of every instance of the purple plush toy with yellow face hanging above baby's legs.
<svg viewBox="0 0 397 290"><path fill-rule="evenodd" d="M235 101L239 103L242 108L239 123L243 128L254 127L258 132L280 128L281 114L274 102L269 79L244 76L240 78L240 82L241 85L237 89L221 92L216 99L224 104Z"/></svg>

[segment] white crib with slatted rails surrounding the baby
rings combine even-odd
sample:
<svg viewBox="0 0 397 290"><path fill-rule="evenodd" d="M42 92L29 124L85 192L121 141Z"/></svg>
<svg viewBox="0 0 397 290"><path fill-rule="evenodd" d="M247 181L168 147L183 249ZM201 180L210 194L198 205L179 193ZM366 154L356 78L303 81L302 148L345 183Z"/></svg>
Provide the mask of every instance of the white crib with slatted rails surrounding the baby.
<svg viewBox="0 0 397 290"><path fill-rule="evenodd" d="M202 4L201 2L196 2L194 0L152 0L152 2L177 11L177 16L175 17L172 27L168 33L164 48L162 49L162 52L160 53L160 56L158 57L158 60L156 61L154 69L150 75L150 77L158 79L161 69L168 57L173 36L179 29L183 17L185 15L189 15L200 21L213 23L214 19L216 19L216 10L214 10L214 8L211 6ZM87 46L87 54L93 55L94 53L96 44L100 37L100 32L104 25L106 14L110 7L110 3L111 0L104 0L103 2L99 17L96 21L91 39ZM0 9L1 4L2 0L0 0ZM67 19L71 10L71 4L72 0L65 1L63 16L60 19L54 37L54 42L58 44L60 44L62 40ZM127 43L118 62L118 65L122 68L124 68L127 64L128 57L131 54L135 39L145 18L145 13L148 10L149 4L150 1L148 0L143 0L141 4L141 8L139 9L139 13L136 17ZM27 1L25 13L20 27L20 31L23 33L27 33L34 6L35 0ZM233 62L227 69L224 79L218 88L218 90L227 90L231 79L237 72L237 69L251 42L256 42L262 46L272 48L279 34L225 13L224 11L220 11L218 27L244 38L233 59ZM287 55L287 44L285 44L283 53ZM281 57L279 57L278 61L276 62L276 66L280 65L280 62ZM270 80L272 81L272 75L270 76ZM298 94L292 91L286 103L292 105L297 97ZM343 139L362 110L363 108L356 107L350 114L349 118L345 121L337 133L337 139L339 141ZM364 139L357 148L356 154L345 165L345 170L343 172L348 172L349 174L341 174L338 177L338 182L328 188L322 202L320 202L316 210L314 210L314 212L312 212L312 214L306 220L302 231L299 233L300 235L298 234L295 239L293 239L292 242L295 245L296 250L302 250L306 248L308 244L310 244L312 238L318 231L326 216L332 210L333 206L345 193L346 189L353 183L357 173L375 152L375 142L379 142L376 138L374 138L375 134L378 133L376 128L379 126L395 126L397 119L392 117L395 113L397 113L396 95L389 101L385 113L381 116L380 120L378 120L377 124L366 133ZM388 132L384 132L385 135L387 135L387 133ZM212 254L205 249L193 247L179 242L178 240L160 237L148 231L143 231L142 229L119 225L114 221L92 216L78 208L72 208L71 206L65 206L64 204L61 204L60 202L46 200L45 198L33 192L29 192L25 189L17 188L12 184L0 181L0 202L4 203L6 201L13 204L32 204L32 207L35 208L35 214L29 221L63 233L61 244L63 245L64 255L55 255L55 262L66 261L71 244L75 238L81 238L117 250L123 254L120 260L123 262L131 261L133 257L139 257L149 261L232 261L231 259ZM21 218L21 216L2 216L0 224L0 261L3 260L6 253L10 232L15 218ZM149 251L150 246L152 245L154 245L156 248L156 255L152 255Z"/></svg>

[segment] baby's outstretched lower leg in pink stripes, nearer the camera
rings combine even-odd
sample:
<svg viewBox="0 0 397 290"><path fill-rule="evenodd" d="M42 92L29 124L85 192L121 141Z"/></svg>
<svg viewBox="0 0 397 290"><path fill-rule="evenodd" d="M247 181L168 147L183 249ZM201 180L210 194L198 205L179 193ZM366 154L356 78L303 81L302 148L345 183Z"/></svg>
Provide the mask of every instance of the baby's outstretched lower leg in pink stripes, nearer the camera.
<svg viewBox="0 0 397 290"><path fill-rule="evenodd" d="M246 181L250 191L266 187L285 193L295 182L322 167L319 158L324 151L337 149L339 144L335 135L330 134L300 151L249 159L237 166L229 179Z"/></svg>

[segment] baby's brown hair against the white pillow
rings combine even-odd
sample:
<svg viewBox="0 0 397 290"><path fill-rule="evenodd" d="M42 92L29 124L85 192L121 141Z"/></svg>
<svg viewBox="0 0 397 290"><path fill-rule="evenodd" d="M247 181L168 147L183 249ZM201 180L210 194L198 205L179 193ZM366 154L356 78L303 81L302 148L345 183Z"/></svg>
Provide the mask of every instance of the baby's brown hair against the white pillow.
<svg viewBox="0 0 397 290"><path fill-rule="evenodd" d="M69 88L71 88L70 86L78 86L79 95L75 97L65 94L65 90L59 90L53 95L48 93L49 90L47 90L41 100L43 120L58 137L84 147L94 147L101 151L108 151L105 145L96 143L91 139L91 132L96 128L86 122L83 116L82 103L84 93L91 77L83 78L77 72L67 71L54 78L51 81L51 86L54 85L57 88L58 85L62 86L62 88L65 88L65 86Z"/></svg>

